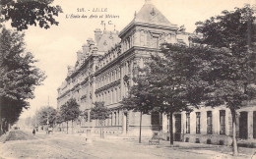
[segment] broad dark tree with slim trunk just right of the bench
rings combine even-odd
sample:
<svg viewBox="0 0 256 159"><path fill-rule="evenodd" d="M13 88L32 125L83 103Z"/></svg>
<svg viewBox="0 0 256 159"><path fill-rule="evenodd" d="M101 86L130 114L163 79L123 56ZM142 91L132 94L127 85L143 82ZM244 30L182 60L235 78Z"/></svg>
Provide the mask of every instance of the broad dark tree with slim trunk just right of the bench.
<svg viewBox="0 0 256 159"><path fill-rule="evenodd" d="M204 61L194 57L200 48L164 43L160 54L152 55L147 68L140 70L137 84L123 100L127 109L157 111L172 117L174 112L198 107L207 89L199 77L204 74ZM173 144L172 118L169 118L170 144Z"/></svg>

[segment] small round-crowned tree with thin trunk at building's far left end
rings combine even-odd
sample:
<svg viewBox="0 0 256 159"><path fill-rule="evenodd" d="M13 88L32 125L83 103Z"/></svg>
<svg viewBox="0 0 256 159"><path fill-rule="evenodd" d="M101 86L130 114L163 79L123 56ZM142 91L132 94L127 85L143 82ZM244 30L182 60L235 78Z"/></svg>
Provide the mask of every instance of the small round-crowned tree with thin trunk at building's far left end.
<svg viewBox="0 0 256 159"><path fill-rule="evenodd" d="M60 107L60 114L64 122L67 123L68 133L68 122L71 121L72 132L73 132L73 121L76 120L80 115L79 104L76 99L71 98L65 104Z"/></svg>

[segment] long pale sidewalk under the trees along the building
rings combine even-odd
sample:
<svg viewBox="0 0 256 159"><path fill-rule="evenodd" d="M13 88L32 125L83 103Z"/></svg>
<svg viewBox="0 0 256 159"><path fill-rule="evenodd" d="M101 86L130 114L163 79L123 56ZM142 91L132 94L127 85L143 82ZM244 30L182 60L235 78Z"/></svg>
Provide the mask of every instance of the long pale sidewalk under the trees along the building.
<svg viewBox="0 0 256 159"><path fill-rule="evenodd" d="M206 154L211 156L211 158L233 158L232 156L232 147L224 146L224 145L214 145L214 144L204 144L204 143L190 143L190 142L178 142L174 141L174 145L170 146L169 141L160 140L159 145L149 145L149 138L142 137L142 143L139 143L139 138L135 136L127 136L127 135L106 135L104 134L104 138L100 138L99 134L91 133L87 135L87 133L63 133L63 132L53 132L53 135L74 135L79 136L85 140L87 143L94 143L96 140L106 141L110 143L118 143L121 145L129 145L129 146L139 146L142 149L161 149L164 152L171 152L173 150L177 150L181 153L194 153L194 154ZM238 156L236 158L249 158L256 159L256 149L255 148L246 148L246 147L238 147Z"/></svg>

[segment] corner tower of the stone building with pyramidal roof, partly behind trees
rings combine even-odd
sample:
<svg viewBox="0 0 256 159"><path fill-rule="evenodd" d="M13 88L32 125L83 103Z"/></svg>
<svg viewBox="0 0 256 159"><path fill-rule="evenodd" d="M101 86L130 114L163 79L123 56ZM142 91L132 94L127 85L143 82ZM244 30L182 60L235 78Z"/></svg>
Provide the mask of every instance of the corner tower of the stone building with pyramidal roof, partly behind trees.
<svg viewBox="0 0 256 159"><path fill-rule="evenodd" d="M131 23L124 27L120 33L120 88L121 96L128 95L133 86L133 77L137 68L143 67L151 54L160 52L160 43L177 43L176 33L178 27L171 24L150 0L134 14ZM139 113L123 112L123 133L138 134ZM159 112L143 116L144 133L165 131L162 127L162 116ZM165 119L165 117L164 117ZM165 120L166 121L166 120Z"/></svg>

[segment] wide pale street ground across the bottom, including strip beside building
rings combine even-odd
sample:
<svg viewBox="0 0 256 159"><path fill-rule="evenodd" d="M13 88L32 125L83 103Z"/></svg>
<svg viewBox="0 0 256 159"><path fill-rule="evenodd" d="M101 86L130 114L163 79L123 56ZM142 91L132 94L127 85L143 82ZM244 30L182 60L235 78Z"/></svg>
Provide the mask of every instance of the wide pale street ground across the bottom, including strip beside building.
<svg viewBox="0 0 256 159"><path fill-rule="evenodd" d="M88 140L86 140L88 138ZM3 143L4 142L4 143ZM65 134L15 131L0 137L2 158L232 158L229 147L176 142L148 145L148 140L137 143L135 138L108 136L100 139L86 134ZM253 158L255 149L243 148L238 158ZM227 152L227 153L224 153Z"/></svg>

